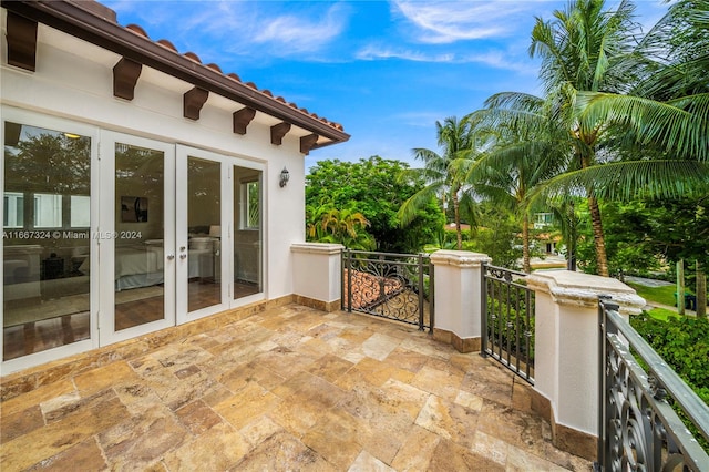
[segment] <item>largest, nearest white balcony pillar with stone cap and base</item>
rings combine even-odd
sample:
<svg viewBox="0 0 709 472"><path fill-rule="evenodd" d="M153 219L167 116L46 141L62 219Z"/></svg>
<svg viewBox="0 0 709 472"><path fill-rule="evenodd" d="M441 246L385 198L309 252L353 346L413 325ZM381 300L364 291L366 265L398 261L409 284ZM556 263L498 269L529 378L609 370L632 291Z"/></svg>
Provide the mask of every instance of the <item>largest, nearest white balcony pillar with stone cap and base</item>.
<svg viewBox="0 0 709 472"><path fill-rule="evenodd" d="M645 300L621 281L568 270L527 278L535 291L533 409L548 418L554 444L596 459L598 434L598 296L637 315Z"/></svg>

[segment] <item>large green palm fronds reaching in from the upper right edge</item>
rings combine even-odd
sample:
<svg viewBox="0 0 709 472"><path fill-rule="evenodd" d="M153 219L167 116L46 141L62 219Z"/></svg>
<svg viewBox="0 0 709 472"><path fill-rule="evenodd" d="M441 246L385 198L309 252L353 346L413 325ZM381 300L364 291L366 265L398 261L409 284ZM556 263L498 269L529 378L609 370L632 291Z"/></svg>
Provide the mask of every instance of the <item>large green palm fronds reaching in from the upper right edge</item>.
<svg viewBox="0 0 709 472"><path fill-rule="evenodd" d="M709 192L709 1L684 0L648 32L628 94L579 93L584 122L604 121L637 152L616 163L612 198L676 198ZM596 178L609 179L602 173ZM618 188L624 192L618 192Z"/></svg>

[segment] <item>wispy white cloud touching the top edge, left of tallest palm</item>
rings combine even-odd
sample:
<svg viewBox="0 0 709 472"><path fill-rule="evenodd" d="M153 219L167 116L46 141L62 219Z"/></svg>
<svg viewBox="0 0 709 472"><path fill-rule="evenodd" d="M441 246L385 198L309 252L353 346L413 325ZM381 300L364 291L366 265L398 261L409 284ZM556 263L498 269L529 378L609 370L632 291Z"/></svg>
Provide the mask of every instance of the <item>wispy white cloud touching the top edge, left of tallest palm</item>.
<svg viewBox="0 0 709 472"><path fill-rule="evenodd" d="M507 37L518 30L518 19L532 19L544 9L536 1L411 1L394 0L394 12L418 27L418 40L450 43L460 40ZM551 6L552 3L546 3Z"/></svg>

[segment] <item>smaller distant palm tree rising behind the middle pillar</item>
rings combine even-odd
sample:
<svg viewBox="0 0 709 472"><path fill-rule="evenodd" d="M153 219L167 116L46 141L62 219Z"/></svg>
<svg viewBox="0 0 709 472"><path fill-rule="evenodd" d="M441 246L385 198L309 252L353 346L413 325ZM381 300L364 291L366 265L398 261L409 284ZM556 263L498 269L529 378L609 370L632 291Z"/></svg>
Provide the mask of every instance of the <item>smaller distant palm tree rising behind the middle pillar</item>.
<svg viewBox="0 0 709 472"><path fill-rule="evenodd" d="M398 212L402 226L415 218L417 212L425 206L432 198L453 202L453 218L458 236L458 249L463 248L461 232L461 213L472 215L473 199L470 192L464 188L464 177L467 172L461 164L462 153L472 148L473 134L467 121L459 121L456 117L446 117L443 124L435 122L438 144L443 148L442 154L425 148L414 148L415 158L423 161L423 168L411 170L418 174L425 186L407 199Z"/></svg>

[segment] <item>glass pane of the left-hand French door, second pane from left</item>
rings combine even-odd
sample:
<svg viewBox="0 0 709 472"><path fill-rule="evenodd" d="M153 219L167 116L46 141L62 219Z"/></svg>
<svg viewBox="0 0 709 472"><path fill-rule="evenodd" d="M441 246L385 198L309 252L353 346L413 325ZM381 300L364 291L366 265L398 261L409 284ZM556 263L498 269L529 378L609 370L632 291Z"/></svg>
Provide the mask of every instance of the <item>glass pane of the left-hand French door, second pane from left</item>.
<svg viewBox="0 0 709 472"><path fill-rule="evenodd" d="M115 143L114 331L165 318L165 153Z"/></svg>

